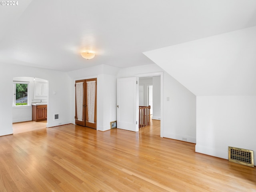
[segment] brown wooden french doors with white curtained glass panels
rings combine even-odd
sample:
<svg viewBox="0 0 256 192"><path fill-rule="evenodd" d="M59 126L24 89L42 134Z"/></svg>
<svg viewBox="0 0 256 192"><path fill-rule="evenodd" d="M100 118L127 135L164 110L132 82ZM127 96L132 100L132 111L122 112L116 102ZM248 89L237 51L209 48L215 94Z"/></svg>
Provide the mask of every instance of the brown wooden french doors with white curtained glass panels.
<svg viewBox="0 0 256 192"><path fill-rule="evenodd" d="M97 78L76 81L75 123L96 129Z"/></svg>

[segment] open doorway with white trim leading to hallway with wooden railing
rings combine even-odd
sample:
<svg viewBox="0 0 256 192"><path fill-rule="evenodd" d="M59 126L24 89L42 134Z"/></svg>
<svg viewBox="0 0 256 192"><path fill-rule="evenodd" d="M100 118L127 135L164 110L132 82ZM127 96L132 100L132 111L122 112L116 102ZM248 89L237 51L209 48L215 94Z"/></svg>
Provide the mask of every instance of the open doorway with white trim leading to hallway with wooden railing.
<svg viewBox="0 0 256 192"><path fill-rule="evenodd" d="M163 72L139 74L139 105L151 106L150 126L140 129L140 133L162 137L162 96Z"/></svg>

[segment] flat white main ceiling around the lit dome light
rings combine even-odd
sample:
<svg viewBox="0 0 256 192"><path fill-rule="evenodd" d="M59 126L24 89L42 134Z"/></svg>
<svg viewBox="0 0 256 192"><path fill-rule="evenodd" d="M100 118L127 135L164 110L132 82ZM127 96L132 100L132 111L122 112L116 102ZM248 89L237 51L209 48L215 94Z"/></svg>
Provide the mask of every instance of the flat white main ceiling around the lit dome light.
<svg viewBox="0 0 256 192"><path fill-rule="evenodd" d="M143 52L256 26L256 1L21 0L0 6L0 25L0 65L124 68L152 64Z"/></svg>

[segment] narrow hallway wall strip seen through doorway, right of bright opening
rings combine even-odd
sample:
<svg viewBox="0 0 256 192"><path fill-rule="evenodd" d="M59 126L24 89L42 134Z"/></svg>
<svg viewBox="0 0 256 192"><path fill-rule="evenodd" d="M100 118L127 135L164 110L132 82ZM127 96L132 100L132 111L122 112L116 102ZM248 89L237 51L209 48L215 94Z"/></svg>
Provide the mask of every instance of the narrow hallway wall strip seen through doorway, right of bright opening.
<svg viewBox="0 0 256 192"><path fill-rule="evenodd" d="M161 120L161 78L160 76L152 77L153 83L153 116L152 119Z"/></svg>

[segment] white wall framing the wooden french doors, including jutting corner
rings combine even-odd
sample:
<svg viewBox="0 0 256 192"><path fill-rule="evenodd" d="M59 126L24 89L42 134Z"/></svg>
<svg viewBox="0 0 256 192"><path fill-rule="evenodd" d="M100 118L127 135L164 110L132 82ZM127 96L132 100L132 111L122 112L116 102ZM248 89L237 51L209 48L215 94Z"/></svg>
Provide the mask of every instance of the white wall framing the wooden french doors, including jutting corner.
<svg viewBox="0 0 256 192"><path fill-rule="evenodd" d="M75 114L75 80L97 78L97 130L110 129L110 122L116 120L116 73L119 69L98 65L68 72L72 79L72 119Z"/></svg>

